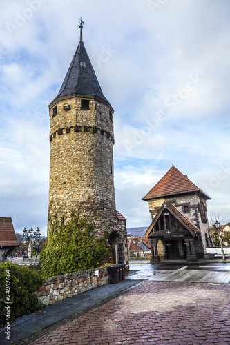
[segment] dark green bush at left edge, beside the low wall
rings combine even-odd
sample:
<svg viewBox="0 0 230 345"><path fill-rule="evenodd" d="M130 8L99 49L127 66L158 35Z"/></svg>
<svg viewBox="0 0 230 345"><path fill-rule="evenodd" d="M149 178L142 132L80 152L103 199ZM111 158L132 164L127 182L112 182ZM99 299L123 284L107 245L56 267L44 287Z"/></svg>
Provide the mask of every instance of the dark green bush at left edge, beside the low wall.
<svg viewBox="0 0 230 345"><path fill-rule="evenodd" d="M42 282L41 273L26 266L20 267L11 262L0 263L1 326L16 317L39 311L44 307L34 294ZM8 302L11 303L8 304ZM10 306L10 313L7 313L6 306Z"/></svg>

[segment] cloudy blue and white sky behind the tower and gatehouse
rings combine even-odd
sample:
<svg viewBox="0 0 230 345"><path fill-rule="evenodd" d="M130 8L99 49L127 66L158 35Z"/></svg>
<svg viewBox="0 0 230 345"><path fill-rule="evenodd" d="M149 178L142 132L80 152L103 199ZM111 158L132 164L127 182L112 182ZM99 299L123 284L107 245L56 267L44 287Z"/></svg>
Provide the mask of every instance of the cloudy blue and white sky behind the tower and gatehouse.
<svg viewBox="0 0 230 345"><path fill-rule="evenodd" d="M46 235L48 104L79 42L115 110L115 195L128 228L173 163L229 220L228 0L8 0L0 25L0 210Z"/></svg>

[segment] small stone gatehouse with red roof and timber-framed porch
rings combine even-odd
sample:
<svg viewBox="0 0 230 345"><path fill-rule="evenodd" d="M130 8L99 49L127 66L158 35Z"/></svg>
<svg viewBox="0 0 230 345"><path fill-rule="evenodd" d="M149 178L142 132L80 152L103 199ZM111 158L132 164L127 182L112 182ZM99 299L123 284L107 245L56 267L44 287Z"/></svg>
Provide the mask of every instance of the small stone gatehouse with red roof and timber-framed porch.
<svg viewBox="0 0 230 345"><path fill-rule="evenodd" d="M175 166L143 197L148 201L152 223L146 231L151 261L203 259L213 246L207 221L211 199Z"/></svg>

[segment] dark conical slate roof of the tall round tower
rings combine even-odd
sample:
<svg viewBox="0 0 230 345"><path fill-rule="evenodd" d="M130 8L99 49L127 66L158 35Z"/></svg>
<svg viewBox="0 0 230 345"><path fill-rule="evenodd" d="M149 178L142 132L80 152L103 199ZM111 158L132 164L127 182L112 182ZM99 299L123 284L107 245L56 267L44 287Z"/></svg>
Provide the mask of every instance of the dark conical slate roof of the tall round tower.
<svg viewBox="0 0 230 345"><path fill-rule="evenodd" d="M77 50L56 99L73 94L96 96L108 103L99 86L83 41L80 41L77 46Z"/></svg>

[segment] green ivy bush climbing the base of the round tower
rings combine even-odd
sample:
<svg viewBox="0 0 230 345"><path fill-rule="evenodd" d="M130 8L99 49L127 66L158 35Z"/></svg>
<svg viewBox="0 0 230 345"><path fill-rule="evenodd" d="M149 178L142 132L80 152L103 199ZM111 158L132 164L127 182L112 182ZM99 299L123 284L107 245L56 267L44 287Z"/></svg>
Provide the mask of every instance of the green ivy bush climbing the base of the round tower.
<svg viewBox="0 0 230 345"><path fill-rule="evenodd" d="M69 221L49 219L48 240L40 257L43 277L99 267L108 257L107 238L96 238L93 224L75 213Z"/></svg>

